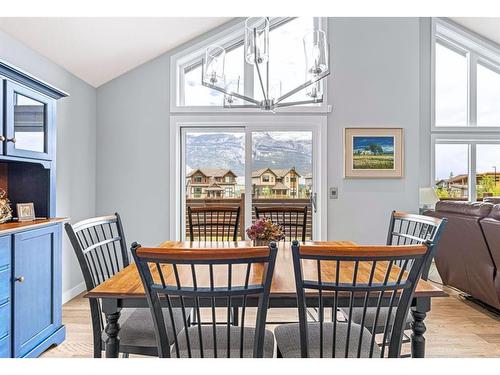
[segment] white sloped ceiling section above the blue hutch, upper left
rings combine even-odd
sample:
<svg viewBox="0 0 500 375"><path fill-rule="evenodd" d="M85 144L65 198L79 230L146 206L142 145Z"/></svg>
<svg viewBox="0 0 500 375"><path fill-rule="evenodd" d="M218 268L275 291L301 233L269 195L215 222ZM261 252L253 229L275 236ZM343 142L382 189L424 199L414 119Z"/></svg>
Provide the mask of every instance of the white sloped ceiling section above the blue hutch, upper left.
<svg viewBox="0 0 500 375"><path fill-rule="evenodd" d="M0 17L0 29L98 87L228 20Z"/></svg>

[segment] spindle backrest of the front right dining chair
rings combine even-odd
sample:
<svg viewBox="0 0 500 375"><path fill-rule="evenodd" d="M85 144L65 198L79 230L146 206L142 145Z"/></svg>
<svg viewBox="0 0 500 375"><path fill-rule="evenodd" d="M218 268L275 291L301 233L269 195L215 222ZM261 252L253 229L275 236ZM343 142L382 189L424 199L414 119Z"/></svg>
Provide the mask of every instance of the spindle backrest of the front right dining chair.
<svg viewBox="0 0 500 375"><path fill-rule="evenodd" d="M386 353L398 357L411 298L432 247L431 241L406 246L352 247L300 246L294 241L301 356L308 357L314 349L319 357L384 357ZM403 262L403 267L396 265L398 261ZM319 307L319 334L314 337L309 333L311 323L307 323L306 295L309 302L315 299ZM347 321L337 321L337 307L346 305ZM381 318L383 306L388 306L389 311ZM360 325L352 321L354 307L362 308ZM325 314L328 309L331 314ZM380 322L384 326L380 349L375 335L361 328L368 324L369 309L374 310L373 322L370 320L372 332ZM330 321L327 316L331 316Z"/></svg>

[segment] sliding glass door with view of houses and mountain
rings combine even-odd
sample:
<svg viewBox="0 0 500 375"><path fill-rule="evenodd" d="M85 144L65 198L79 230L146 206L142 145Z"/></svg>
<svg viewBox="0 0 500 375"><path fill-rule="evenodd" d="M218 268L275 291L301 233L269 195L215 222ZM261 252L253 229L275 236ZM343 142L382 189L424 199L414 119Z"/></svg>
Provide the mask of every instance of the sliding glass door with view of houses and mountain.
<svg viewBox="0 0 500 375"><path fill-rule="evenodd" d="M255 221L256 207L304 209L305 238L326 237L318 204L317 186L320 177L326 178L319 176L318 126L221 121L179 124L178 129L180 239L188 238L187 208L209 206L240 207L239 239L246 238L245 229Z"/></svg>

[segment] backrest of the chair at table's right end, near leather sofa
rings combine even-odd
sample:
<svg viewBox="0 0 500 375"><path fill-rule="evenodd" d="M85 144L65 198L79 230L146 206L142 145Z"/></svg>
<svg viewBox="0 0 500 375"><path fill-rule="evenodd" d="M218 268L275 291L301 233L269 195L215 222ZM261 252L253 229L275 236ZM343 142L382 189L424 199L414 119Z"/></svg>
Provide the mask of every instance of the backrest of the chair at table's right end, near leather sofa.
<svg viewBox="0 0 500 375"><path fill-rule="evenodd" d="M433 252L422 270L422 279L427 280L432 258L445 225L446 219L392 211L387 245L416 245L426 241L434 243ZM401 266L401 262L397 265Z"/></svg>

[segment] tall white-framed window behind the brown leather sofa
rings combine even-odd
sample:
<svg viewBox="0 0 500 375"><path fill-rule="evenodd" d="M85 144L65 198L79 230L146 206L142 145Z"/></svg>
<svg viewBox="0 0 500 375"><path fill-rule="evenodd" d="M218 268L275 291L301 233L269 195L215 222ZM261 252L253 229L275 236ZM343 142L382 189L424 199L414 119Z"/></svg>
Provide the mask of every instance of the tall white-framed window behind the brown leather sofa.
<svg viewBox="0 0 500 375"><path fill-rule="evenodd" d="M434 21L434 186L441 199L500 195L500 50Z"/></svg>

